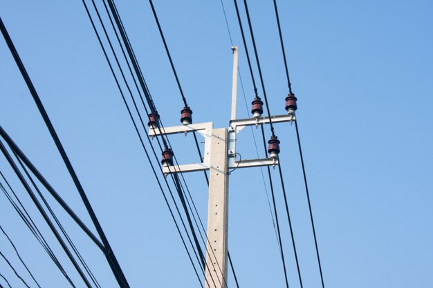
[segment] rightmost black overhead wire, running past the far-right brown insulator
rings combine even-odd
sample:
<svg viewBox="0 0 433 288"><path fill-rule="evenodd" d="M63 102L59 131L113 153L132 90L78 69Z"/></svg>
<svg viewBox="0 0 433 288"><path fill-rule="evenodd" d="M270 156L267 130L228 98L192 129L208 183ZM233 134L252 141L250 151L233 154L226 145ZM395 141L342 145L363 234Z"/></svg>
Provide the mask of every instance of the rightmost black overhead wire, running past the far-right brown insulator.
<svg viewBox="0 0 433 288"><path fill-rule="evenodd" d="M288 90L289 90L289 93L291 95L293 95L291 79L290 79L290 75L288 73L288 65L287 65L287 60L286 60L286 50L284 49L284 41L283 41L283 37L282 37L282 30L281 30L281 25L279 23L277 1L274 0L273 3L274 3L274 10L275 10L275 17L277 19L279 42L281 44L282 53L283 53L284 68L286 70ZM304 176L306 198L307 198L307 202L308 202L308 211L310 213L311 227L313 228L315 252L316 252L316 256L317 256L317 263L319 265L320 280L322 282L322 288L324 288L322 264L320 263L319 247L318 247L318 244L317 244L317 236L316 236L316 233L315 233L315 226L314 226L314 220L313 220L313 212L312 212L312 209L311 209L310 193L308 192L308 184L307 184L307 181L306 181L306 172L305 172L305 165L304 165L304 157L302 156L302 148L301 148L300 135L299 135L298 127L297 127L297 118L295 119L295 130L296 130L297 144L298 144L298 148L299 148L299 151L300 151L300 158L301 158L301 164L302 164L302 174Z"/></svg>

